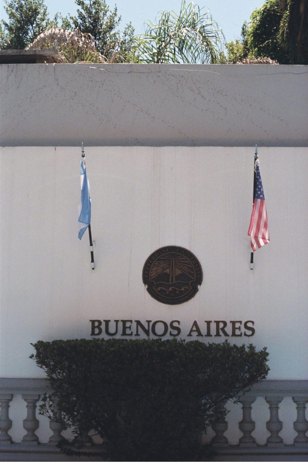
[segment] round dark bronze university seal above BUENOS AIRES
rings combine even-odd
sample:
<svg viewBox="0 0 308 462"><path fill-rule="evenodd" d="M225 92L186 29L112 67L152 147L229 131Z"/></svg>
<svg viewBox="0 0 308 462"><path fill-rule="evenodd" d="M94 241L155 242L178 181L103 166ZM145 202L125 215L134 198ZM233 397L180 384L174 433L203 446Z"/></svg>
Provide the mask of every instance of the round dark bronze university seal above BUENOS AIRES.
<svg viewBox="0 0 308 462"><path fill-rule="evenodd" d="M170 245L155 250L148 257L142 281L155 300L177 305L196 295L202 283L202 268L189 250Z"/></svg>

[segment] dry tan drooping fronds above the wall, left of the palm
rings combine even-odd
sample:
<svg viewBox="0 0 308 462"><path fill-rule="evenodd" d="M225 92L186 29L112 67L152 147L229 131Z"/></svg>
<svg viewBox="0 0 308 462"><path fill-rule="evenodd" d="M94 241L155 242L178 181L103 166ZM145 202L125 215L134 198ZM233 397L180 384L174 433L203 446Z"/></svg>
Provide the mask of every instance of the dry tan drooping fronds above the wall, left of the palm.
<svg viewBox="0 0 308 462"><path fill-rule="evenodd" d="M95 40L91 34L83 34L79 29L74 31L64 30L59 27L45 30L40 34L27 49L57 49L61 56L61 62L108 62L95 46Z"/></svg>

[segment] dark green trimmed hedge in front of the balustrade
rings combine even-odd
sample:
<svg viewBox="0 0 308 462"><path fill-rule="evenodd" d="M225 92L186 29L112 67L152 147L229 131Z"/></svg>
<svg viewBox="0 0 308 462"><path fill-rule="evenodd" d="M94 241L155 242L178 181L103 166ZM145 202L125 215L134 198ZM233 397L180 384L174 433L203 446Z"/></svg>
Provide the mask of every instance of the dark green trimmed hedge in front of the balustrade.
<svg viewBox="0 0 308 462"><path fill-rule="evenodd" d="M31 355L60 401L73 447L94 431L112 461L193 461L223 404L265 379L266 348L184 340L54 340ZM54 396L40 413L55 417Z"/></svg>

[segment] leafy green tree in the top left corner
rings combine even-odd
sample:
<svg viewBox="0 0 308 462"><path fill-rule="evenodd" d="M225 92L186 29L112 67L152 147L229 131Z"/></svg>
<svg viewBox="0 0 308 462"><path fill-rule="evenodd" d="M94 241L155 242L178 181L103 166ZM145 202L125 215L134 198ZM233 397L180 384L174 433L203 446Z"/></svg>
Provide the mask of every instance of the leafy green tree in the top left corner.
<svg viewBox="0 0 308 462"><path fill-rule="evenodd" d="M44 0L5 0L8 21L1 20L0 48L25 49L43 30L52 27Z"/></svg>

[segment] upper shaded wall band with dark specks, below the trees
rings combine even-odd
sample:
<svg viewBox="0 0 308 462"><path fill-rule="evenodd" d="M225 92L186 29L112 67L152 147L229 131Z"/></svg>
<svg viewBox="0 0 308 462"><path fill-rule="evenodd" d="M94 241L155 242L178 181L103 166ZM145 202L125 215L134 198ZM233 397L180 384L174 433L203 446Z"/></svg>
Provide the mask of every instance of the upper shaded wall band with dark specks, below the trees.
<svg viewBox="0 0 308 462"><path fill-rule="evenodd" d="M2 64L1 146L308 146L308 66Z"/></svg>

